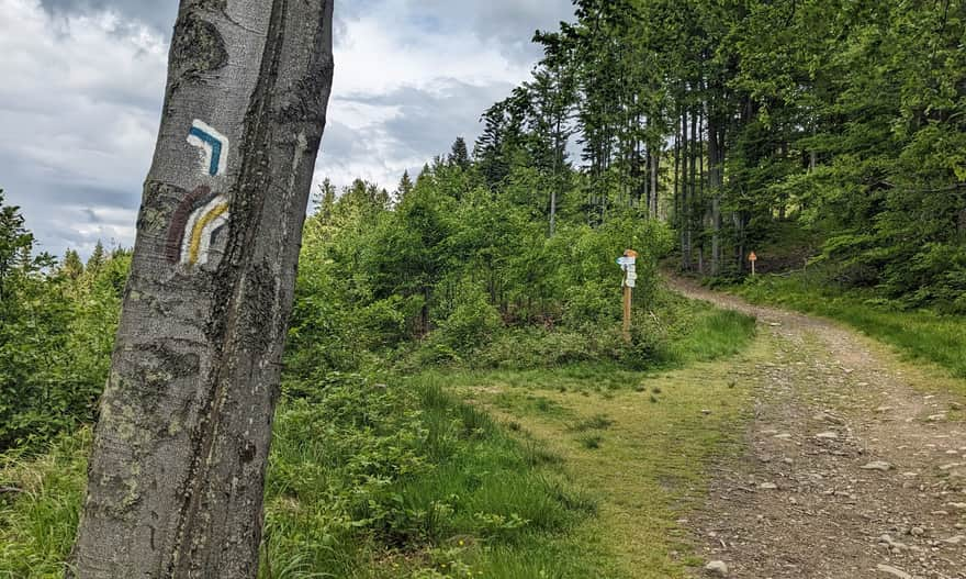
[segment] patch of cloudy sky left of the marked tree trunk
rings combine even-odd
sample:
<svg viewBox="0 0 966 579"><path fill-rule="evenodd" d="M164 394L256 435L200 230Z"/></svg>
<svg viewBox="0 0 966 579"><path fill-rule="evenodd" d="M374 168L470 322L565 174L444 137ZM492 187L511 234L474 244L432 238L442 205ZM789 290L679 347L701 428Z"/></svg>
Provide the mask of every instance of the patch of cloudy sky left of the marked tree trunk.
<svg viewBox="0 0 966 579"><path fill-rule="evenodd" d="M0 186L42 247L130 245L167 48L111 13L52 19L0 0ZM123 33L121 30L123 27Z"/></svg>

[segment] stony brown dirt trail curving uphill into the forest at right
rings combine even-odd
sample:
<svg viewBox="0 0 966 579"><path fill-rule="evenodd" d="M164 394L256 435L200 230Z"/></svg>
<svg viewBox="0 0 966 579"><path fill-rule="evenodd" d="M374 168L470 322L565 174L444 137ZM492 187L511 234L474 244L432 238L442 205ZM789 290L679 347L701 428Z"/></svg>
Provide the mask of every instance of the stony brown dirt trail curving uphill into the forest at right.
<svg viewBox="0 0 966 579"><path fill-rule="evenodd" d="M737 369L755 385L748 450L716 466L687 522L707 560L734 578L966 578L966 415L952 379L832 322L671 285L757 316L777 353Z"/></svg>

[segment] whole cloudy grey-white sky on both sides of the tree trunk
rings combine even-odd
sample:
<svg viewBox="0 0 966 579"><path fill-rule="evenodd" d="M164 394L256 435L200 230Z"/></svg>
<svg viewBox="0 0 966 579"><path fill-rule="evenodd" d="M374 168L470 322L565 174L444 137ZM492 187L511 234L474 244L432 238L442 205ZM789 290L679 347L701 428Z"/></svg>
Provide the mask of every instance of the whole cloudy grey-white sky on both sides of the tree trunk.
<svg viewBox="0 0 966 579"><path fill-rule="evenodd" d="M177 0L0 0L0 188L41 249L130 246ZM392 189L469 143L525 80L570 0L336 0L336 80L316 179Z"/></svg>

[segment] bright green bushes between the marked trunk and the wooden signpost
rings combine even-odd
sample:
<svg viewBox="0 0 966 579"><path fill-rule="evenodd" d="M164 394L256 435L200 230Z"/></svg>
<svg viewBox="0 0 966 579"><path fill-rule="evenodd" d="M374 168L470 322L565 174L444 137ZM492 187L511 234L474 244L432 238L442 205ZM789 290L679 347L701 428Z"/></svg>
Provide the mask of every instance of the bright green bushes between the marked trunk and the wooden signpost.
<svg viewBox="0 0 966 579"><path fill-rule="evenodd" d="M670 230L626 210L596 227L561 219L551 236L538 172L514 165L490 187L460 149L458 141L415 183L404 176L394 194L362 181L340 194L323 186L300 261L291 378L357 369L373 353L411 368L496 365L492 348L506 339L549 348L549 364L627 354L615 259L626 247L644 253L637 297L648 305ZM538 338L527 341L527 329ZM575 359L569 339L583 344Z"/></svg>

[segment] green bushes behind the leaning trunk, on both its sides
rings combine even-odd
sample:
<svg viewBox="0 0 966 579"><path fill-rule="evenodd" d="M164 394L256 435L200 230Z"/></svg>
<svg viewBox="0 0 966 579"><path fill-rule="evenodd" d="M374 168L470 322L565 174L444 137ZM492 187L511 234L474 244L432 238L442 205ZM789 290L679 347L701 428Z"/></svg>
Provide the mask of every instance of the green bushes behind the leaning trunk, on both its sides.
<svg viewBox="0 0 966 579"><path fill-rule="evenodd" d="M654 274L670 230L629 209L594 227L563 213L551 236L538 181L514 164L505 183L487 186L459 140L448 160L415 182L404 176L393 196L362 181L337 194L325 183L305 230L289 392L387 365L659 360L667 327L686 332L687 312L669 309L664 323L642 324L626 345L615 258L626 247L644 253L638 304L661 307ZM94 417L130 255L99 246L86 265L76 252L60 264L34 257L16 208L3 207L3 219L0 448L8 448Z"/></svg>

